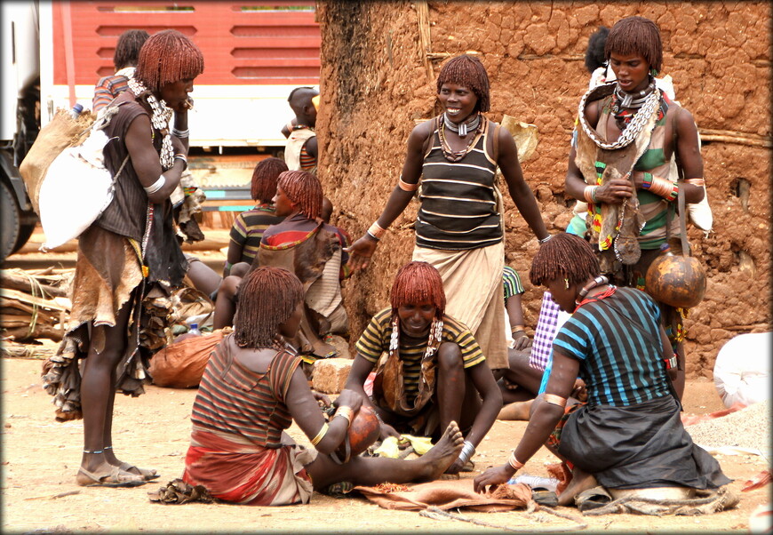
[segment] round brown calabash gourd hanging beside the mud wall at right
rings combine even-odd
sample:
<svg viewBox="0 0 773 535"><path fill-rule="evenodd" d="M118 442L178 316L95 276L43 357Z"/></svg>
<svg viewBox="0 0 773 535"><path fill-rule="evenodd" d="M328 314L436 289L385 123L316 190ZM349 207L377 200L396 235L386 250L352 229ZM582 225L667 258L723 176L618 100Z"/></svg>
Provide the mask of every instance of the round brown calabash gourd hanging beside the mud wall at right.
<svg viewBox="0 0 773 535"><path fill-rule="evenodd" d="M703 300L705 270L697 258L673 254L667 246L647 269L645 290L653 298L677 308L692 308Z"/></svg>

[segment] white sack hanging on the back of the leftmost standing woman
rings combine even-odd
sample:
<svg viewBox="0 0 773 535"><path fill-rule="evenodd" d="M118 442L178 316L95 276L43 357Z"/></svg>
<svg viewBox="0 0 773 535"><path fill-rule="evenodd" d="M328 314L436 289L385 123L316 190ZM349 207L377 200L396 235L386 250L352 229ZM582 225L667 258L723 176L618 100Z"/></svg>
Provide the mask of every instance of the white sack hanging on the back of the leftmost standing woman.
<svg viewBox="0 0 773 535"><path fill-rule="evenodd" d="M113 179L102 149L108 136L93 129L83 144L65 148L48 168L40 187L41 251L80 236L113 200Z"/></svg>

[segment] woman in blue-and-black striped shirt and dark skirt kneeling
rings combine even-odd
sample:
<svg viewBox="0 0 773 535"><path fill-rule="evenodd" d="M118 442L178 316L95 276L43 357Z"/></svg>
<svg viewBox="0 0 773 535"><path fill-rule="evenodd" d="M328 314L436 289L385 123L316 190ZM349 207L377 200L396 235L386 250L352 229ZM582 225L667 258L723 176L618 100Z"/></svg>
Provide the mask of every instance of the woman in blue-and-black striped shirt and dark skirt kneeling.
<svg viewBox="0 0 773 535"><path fill-rule="evenodd" d="M521 442L504 465L475 478L475 490L506 483L543 443L571 465L560 505L586 490L584 496L603 495L590 491L597 484L612 498L668 488L681 499L693 489L729 483L681 424L671 385L673 352L657 303L643 291L610 284L586 240L565 233L539 249L530 280L545 285L572 315L554 339L552 363ZM578 373L588 401L567 407Z"/></svg>

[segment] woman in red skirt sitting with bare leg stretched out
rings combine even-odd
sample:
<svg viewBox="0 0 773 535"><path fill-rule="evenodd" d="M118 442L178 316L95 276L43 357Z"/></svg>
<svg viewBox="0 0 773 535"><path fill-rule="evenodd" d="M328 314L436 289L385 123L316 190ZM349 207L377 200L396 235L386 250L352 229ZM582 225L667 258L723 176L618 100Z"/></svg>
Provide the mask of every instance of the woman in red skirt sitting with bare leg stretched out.
<svg viewBox="0 0 773 535"><path fill-rule="evenodd" d="M282 268L258 268L239 287L235 331L210 357L196 395L183 480L235 503L308 503L333 483L410 483L439 477L457 459L462 436L450 422L442 439L415 460L355 456L344 464L330 453L343 443L362 397L344 390L330 423L285 339L298 331L303 286ZM294 443L292 421L315 445Z"/></svg>

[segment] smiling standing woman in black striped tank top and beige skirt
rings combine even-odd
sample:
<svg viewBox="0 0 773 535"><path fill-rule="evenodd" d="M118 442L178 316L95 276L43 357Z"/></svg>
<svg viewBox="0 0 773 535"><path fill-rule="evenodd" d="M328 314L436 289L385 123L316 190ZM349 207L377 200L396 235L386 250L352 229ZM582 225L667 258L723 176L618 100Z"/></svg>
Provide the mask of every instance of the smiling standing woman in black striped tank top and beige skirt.
<svg viewBox="0 0 773 535"><path fill-rule="evenodd" d="M510 196L540 241L549 235L529 185L523 180L513 136L483 116L490 109L489 77L481 60L462 55L446 63L437 78L437 99L445 112L418 124L384 211L350 248L353 269L365 268L386 228L418 189L416 246L412 260L438 269L448 313L465 323L492 370L507 363L502 196L497 168Z"/></svg>

